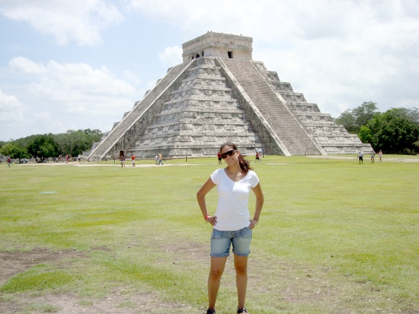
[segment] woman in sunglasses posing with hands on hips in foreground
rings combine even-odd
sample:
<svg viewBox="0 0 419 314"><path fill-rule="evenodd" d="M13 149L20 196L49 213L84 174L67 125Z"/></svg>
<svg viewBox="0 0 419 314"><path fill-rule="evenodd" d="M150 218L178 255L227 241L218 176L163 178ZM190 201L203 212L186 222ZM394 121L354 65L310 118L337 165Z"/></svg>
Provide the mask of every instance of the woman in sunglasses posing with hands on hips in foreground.
<svg viewBox="0 0 419 314"><path fill-rule="evenodd" d="M225 169L217 169L203 184L196 198L202 215L213 226L211 237L211 269L208 276L207 314L216 313L215 304L221 276L225 268L230 245L233 245L236 287L238 294L237 313L248 313L245 308L247 290L247 258L250 253L252 229L259 222L263 206L263 193L258 176L251 171L249 162L240 156L234 143L220 147L221 158L227 164ZM217 186L218 206L214 216L209 215L205 195ZM253 219L250 219L250 189L256 195Z"/></svg>

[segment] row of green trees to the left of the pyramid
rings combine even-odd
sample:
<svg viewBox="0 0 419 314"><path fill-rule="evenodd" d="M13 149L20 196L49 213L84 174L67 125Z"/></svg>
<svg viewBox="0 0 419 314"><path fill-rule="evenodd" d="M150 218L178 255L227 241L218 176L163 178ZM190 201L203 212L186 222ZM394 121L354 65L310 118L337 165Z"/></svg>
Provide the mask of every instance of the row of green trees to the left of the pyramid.
<svg viewBox="0 0 419 314"><path fill-rule="evenodd" d="M89 151L93 142L100 141L100 130L68 130L60 134L36 134L8 142L0 141L0 154L10 158L48 158L53 156L78 156Z"/></svg>

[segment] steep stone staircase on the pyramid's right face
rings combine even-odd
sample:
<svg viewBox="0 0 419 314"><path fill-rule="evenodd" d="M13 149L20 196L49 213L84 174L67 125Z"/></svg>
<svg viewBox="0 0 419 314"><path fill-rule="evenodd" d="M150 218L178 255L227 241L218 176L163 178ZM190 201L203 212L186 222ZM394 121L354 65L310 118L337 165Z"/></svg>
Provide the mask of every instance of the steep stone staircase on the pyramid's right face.
<svg viewBox="0 0 419 314"><path fill-rule="evenodd" d="M250 60L222 60L291 155L324 154Z"/></svg>

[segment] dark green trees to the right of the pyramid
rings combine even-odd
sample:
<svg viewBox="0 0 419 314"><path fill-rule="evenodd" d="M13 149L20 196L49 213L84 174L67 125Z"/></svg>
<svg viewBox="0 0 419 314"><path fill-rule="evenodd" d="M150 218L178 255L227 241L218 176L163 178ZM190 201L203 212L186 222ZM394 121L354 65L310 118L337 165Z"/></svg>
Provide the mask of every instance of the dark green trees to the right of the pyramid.
<svg viewBox="0 0 419 314"><path fill-rule="evenodd" d="M358 134L363 143L370 143L377 152L419 153L418 108L391 108L379 112L372 101L348 109L335 119L350 133Z"/></svg>

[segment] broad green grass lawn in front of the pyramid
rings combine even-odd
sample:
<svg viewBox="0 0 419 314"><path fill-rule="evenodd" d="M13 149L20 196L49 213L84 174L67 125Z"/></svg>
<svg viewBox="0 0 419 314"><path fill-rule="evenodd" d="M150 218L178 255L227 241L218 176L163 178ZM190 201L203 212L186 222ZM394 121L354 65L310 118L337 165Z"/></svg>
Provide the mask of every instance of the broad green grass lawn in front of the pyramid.
<svg viewBox="0 0 419 314"><path fill-rule="evenodd" d="M347 157L251 160L265 203L249 256L250 313L419 313L419 162ZM203 313L211 227L195 194L217 162L2 163L1 271L5 256L49 258L21 258L27 267L0 277L0 312L71 313L65 296L87 312ZM216 189L207 205L214 213ZM236 309L231 262L220 314Z"/></svg>

